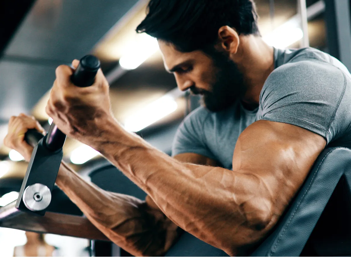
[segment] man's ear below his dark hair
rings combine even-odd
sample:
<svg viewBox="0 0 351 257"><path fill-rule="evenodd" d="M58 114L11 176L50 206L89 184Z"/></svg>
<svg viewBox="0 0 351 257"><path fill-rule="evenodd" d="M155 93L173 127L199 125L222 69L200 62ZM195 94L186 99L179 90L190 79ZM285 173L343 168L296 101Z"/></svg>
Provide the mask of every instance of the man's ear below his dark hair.
<svg viewBox="0 0 351 257"><path fill-rule="evenodd" d="M236 54L239 46L239 34L229 26L218 29L218 40L224 51Z"/></svg>

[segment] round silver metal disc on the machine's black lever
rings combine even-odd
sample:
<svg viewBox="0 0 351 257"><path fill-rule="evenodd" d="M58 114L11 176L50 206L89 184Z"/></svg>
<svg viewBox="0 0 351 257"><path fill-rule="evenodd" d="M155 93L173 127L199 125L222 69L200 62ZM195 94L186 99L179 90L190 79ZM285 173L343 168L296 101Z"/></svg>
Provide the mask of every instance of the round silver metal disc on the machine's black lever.
<svg viewBox="0 0 351 257"><path fill-rule="evenodd" d="M22 199L29 210L42 211L51 202L51 192L46 185L37 183L27 186L23 192Z"/></svg>

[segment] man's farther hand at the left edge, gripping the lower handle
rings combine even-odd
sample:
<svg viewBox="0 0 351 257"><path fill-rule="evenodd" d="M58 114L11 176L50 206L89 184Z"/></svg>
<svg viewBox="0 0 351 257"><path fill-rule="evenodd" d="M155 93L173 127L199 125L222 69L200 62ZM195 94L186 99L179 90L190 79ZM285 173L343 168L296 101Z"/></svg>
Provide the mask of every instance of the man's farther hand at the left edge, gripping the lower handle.
<svg viewBox="0 0 351 257"><path fill-rule="evenodd" d="M8 123L8 133L4 139L4 145L19 152L27 162L31 159L33 147L24 140L24 135L29 129L36 129L41 133L45 130L33 116L21 113L12 116Z"/></svg>

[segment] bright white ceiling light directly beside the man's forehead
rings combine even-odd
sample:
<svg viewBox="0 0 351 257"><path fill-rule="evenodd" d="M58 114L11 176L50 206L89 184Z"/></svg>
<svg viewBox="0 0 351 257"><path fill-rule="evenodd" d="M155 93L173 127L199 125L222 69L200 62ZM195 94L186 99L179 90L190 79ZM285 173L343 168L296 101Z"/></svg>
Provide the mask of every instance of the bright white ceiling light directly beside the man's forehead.
<svg viewBox="0 0 351 257"><path fill-rule="evenodd" d="M137 68L159 49L157 39L146 33L139 34L136 38L119 60L119 65L125 70Z"/></svg>

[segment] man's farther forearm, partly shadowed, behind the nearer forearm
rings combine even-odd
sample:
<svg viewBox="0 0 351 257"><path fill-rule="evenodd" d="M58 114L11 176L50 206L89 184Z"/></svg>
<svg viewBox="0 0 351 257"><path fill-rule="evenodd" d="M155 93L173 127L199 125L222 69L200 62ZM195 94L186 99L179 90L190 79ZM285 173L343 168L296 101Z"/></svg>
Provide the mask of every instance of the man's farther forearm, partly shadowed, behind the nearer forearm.
<svg viewBox="0 0 351 257"><path fill-rule="evenodd" d="M56 184L101 232L135 256L163 255L181 232L152 202L102 190L64 162Z"/></svg>

